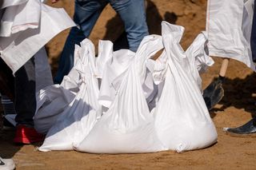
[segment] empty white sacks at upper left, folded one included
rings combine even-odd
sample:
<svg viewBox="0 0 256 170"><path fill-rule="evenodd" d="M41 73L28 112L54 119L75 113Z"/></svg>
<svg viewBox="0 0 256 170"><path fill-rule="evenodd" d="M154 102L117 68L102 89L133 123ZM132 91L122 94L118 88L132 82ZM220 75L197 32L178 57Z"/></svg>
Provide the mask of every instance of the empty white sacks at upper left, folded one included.
<svg viewBox="0 0 256 170"><path fill-rule="evenodd" d="M4 31L0 34L0 51L13 73L56 34L75 26L65 10L46 6L39 0L19 1L23 2L20 5L17 1L15 6L6 1L7 7L0 10L2 23L6 23L1 27Z"/></svg>

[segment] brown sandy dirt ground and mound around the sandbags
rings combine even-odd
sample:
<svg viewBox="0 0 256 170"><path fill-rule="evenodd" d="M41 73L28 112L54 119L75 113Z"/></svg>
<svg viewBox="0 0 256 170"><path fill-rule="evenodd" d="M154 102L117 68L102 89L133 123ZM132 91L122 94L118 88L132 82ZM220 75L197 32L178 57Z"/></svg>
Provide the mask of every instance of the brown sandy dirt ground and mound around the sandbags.
<svg viewBox="0 0 256 170"><path fill-rule="evenodd" d="M200 31L205 30L206 0L148 0L147 22L150 34L161 34L160 22L184 26L182 47L186 49ZM50 3L48 3L52 6ZM64 7L73 15L74 1L62 0L55 7ZM58 57L69 30L62 32L47 45L53 73L58 68ZM98 19L90 40L116 40L122 34L120 18L106 6ZM222 59L214 57L215 64L202 75L203 87L218 75ZM197 151L156 152L148 154L88 154L82 152L38 152L37 146L17 146L12 143L13 131L0 131L0 154L12 157L16 169L256 169L256 138L238 138L226 135L224 127L236 127L249 121L256 113L256 74L241 62L230 61L224 84L225 96L210 115L218 130L218 143Z"/></svg>

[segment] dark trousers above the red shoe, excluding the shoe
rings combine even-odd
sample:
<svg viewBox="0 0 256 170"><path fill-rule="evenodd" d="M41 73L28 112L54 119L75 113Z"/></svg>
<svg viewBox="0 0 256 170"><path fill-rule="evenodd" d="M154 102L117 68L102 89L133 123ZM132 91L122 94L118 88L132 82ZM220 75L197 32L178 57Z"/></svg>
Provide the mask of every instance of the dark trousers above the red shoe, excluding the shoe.
<svg viewBox="0 0 256 170"><path fill-rule="evenodd" d="M34 126L36 109L34 57L26 62L13 76L12 71L0 57L0 93L14 101L19 125Z"/></svg>

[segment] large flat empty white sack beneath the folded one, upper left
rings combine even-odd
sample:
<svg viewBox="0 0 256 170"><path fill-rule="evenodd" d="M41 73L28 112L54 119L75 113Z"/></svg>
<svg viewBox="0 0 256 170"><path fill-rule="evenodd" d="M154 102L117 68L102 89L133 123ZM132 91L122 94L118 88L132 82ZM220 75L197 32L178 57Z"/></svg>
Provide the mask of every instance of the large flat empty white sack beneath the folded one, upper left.
<svg viewBox="0 0 256 170"><path fill-rule="evenodd" d="M13 73L37 53L43 45L49 42L51 38L54 38L56 34L71 26L75 26L73 20L66 14L65 10L55 9L42 3L40 5L41 7L33 6L35 8L34 10L41 11L37 29L26 29L16 34L11 34L10 37L0 37L1 57L10 69L12 69ZM31 14L30 11L24 11L20 15L19 18L23 18L23 22L26 23L25 16L30 16ZM22 23L22 21L18 23Z"/></svg>

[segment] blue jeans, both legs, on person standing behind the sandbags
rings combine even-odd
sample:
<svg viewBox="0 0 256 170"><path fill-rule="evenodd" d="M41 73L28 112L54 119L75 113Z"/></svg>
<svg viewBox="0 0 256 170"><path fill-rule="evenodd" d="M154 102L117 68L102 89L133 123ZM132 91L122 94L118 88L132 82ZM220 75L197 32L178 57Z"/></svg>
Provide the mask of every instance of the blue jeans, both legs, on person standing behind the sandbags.
<svg viewBox="0 0 256 170"><path fill-rule="evenodd" d="M135 52L142 38L149 34L144 0L76 0L74 22L80 29L73 27L70 30L62 50L54 83L61 83L63 77L70 72L74 65L74 44L79 44L89 37L99 15L108 3L124 22L130 50Z"/></svg>

